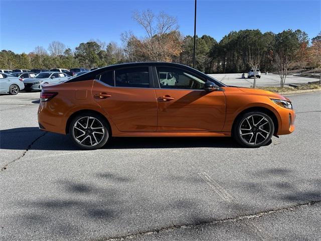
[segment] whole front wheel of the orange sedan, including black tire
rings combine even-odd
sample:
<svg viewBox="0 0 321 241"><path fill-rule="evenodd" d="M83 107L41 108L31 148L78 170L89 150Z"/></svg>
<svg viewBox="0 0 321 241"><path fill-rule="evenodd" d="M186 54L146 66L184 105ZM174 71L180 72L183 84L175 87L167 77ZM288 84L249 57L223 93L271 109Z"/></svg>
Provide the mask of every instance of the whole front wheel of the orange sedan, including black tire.
<svg viewBox="0 0 321 241"><path fill-rule="evenodd" d="M258 124L260 125L257 127ZM274 124L271 117L260 111L246 112L240 115L236 119L232 130L233 138L241 146L248 148L265 146L270 143L273 133Z"/></svg>

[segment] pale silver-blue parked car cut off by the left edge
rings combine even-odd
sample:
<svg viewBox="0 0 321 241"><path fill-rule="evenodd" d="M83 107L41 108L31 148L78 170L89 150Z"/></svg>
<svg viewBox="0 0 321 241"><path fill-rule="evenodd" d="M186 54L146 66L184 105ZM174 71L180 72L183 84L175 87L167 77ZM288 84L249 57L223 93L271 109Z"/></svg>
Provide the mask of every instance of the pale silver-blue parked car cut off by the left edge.
<svg viewBox="0 0 321 241"><path fill-rule="evenodd" d="M22 78L18 78L9 74L0 73L0 92L18 94L20 90L24 89L25 85Z"/></svg>

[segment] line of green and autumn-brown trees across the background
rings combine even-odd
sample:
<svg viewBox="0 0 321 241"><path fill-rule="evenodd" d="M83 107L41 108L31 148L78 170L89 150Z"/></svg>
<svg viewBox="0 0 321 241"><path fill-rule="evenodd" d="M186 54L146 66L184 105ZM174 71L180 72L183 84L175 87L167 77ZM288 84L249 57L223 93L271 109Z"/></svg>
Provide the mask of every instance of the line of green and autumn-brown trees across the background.
<svg viewBox="0 0 321 241"><path fill-rule="evenodd" d="M0 68L90 68L138 61L193 65L194 39L182 35L176 18L163 12L155 15L147 10L135 12L133 20L144 29L145 36L138 37L132 32L124 32L121 34L122 46L115 42L90 40L70 49L54 41L47 49L37 46L30 53L17 54L11 50L2 50ZM200 71L247 72L253 67L253 59L261 71L319 68L321 33L311 41L301 30L284 30L281 33L232 31L219 42L208 35L196 37L196 68Z"/></svg>

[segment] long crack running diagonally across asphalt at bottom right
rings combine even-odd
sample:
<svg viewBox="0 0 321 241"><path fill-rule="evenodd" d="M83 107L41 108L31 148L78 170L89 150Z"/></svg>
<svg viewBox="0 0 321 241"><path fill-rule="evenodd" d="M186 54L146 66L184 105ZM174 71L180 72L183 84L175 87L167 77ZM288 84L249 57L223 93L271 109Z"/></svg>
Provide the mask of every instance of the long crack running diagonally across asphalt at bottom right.
<svg viewBox="0 0 321 241"><path fill-rule="evenodd" d="M131 238L135 238L135 237L143 237L143 236L148 236L148 235L152 235L152 234L162 233L165 231L175 231L178 229L185 229L185 228L188 228L188 229L199 228L199 227L203 227L203 226L216 225L219 223L236 222L236 221L242 221L242 220L246 220L246 219L256 219L256 218L259 218L262 216L267 216L267 215L274 214L274 213L293 211L293 210L296 210L300 207L311 206L311 205L318 204L318 203L321 203L321 200L309 201L306 203L297 203L297 204L294 204L289 207L281 207L281 208L277 208L277 209L271 209L271 210L267 210L267 211L263 211L263 212L259 212L259 213L255 213L255 214L249 214L249 215L238 216L238 217L233 217L233 218L229 217L229 218L223 218L223 219L212 220L212 221L204 221L204 222L200 222L200 223L196 223L196 224L180 224L180 225L174 224L174 225L167 226L167 227L136 232L136 233L125 235L125 236L114 236L114 237L109 237L109 238L104 238L104 239L99 239L99 240L100 241L119 241L119 240L131 239Z"/></svg>

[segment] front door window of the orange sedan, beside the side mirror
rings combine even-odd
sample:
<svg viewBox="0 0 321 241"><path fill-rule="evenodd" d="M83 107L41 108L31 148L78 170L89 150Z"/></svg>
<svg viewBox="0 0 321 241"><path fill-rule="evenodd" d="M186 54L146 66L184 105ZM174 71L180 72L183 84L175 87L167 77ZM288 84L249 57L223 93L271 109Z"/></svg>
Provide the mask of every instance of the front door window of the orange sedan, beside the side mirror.
<svg viewBox="0 0 321 241"><path fill-rule="evenodd" d="M159 86L163 89L203 89L206 79L184 69L157 67Z"/></svg>

